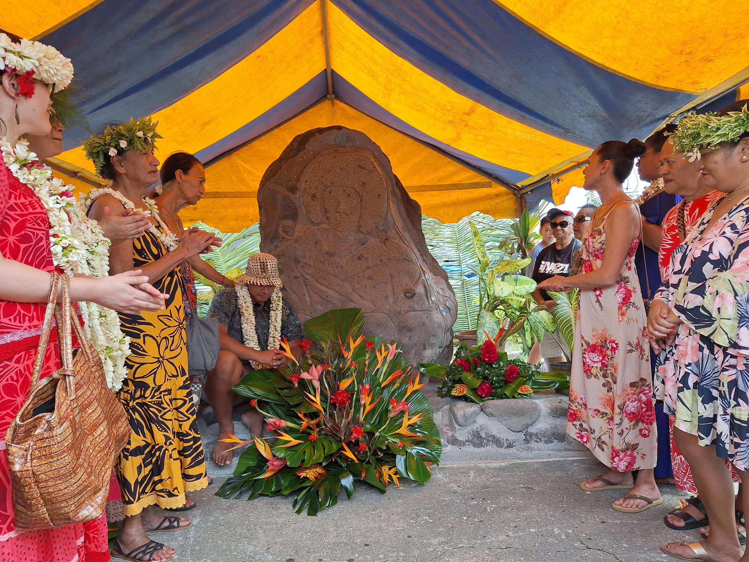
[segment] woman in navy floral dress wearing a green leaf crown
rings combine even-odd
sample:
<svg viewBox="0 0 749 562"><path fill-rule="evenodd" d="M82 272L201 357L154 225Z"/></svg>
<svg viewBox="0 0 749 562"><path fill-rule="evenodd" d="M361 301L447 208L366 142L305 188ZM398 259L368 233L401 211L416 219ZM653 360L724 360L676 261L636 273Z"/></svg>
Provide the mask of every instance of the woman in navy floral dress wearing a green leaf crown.
<svg viewBox="0 0 749 562"><path fill-rule="evenodd" d="M682 560L749 561L736 534L733 482L749 477L749 109L688 115L670 136L675 151L700 160L704 187L726 195L709 206L671 256L671 274L648 314L663 369L673 438L691 468L710 522L706 540L670 543ZM749 486L743 486L749 505Z"/></svg>

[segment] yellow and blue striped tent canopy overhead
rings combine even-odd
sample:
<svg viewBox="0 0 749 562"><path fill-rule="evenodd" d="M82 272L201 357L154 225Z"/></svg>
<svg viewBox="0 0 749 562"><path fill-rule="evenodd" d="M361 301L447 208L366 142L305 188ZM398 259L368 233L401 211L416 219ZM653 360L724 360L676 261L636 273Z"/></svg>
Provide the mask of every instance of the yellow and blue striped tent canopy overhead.
<svg viewBox="0 0 749 562"><path fill-rule="evenodd" d="M749 79L749 7L731 0L3 5L1 28L73 60L91 130L151 115L161 159L206 164L207 197L185 218L224 231L257 220L265 169L314 127L370 136L425 214L512 217L521 193L563 199L579 171L550 174L601 142L730 103ZM68 130L57 163L90 178L87 134Z"/></svg>

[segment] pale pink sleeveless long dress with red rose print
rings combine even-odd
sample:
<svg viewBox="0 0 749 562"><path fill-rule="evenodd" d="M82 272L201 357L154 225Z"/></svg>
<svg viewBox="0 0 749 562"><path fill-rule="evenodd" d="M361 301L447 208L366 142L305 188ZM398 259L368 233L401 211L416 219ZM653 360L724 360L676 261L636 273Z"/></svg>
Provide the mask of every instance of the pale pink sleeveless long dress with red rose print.
<svg viewBox="0 0 749 562"><path fill-rule="evenodd" d="M601 267L615 207L583 239L583 274ZM572 352L567 432L619 472L655 468L658 450L646 314L634 272L639 242L615 284L580 290Z"/></svg>

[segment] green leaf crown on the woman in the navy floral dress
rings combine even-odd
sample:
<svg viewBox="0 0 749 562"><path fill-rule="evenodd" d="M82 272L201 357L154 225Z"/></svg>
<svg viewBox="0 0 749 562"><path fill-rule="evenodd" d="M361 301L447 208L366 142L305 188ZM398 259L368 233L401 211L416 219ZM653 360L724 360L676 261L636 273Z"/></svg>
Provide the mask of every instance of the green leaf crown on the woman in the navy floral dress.
<svg viewBox="0 0 749 562"><path fill-rule="evenodd" d="M747 131L749 109L745 105L741 111L725 115L716 115L715 112L686 115L679 120L679 128L666 135L677 151L694 160L700 158L700 148L718 148L721 142L736 142Z"/></svg>

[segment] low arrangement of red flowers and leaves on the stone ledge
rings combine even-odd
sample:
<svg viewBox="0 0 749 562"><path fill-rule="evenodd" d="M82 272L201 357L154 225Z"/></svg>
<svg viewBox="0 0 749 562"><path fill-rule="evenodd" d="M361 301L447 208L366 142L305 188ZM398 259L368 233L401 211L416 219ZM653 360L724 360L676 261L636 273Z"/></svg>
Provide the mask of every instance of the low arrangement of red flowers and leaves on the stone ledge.
<svg viewBox="0 0 749 562"><path fill-rule="evenodd" d="M509 359L497 351L497 340L486 339L480 348L467 348L464 343L455 351L449 366L420 363L425 375L443 380L437 387L440 398L454 396L480 404L487 400L528 398L536 390L554 390L569 386L569 375L542 372L539 367L521 359Z"/></svg>

